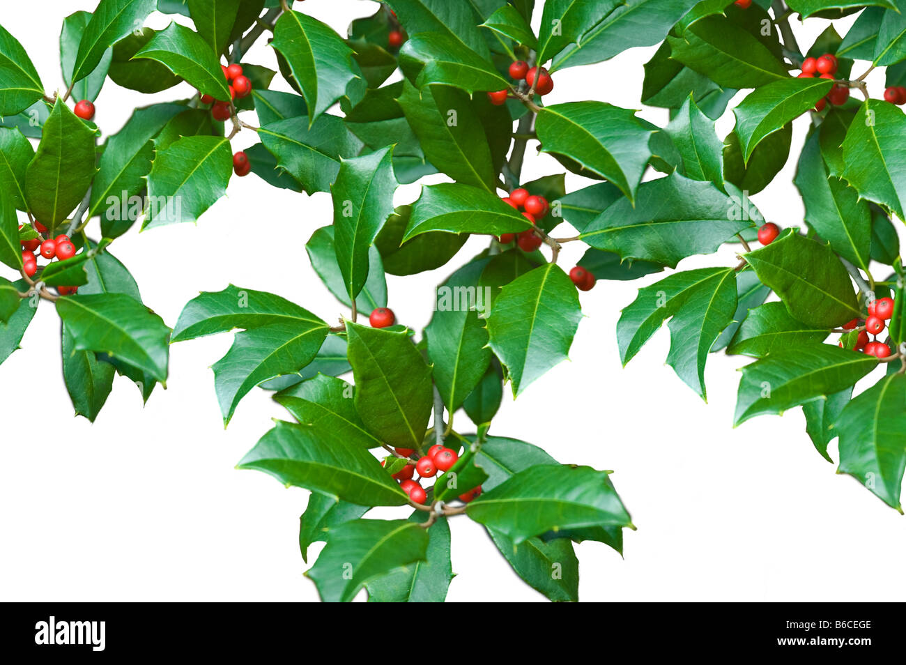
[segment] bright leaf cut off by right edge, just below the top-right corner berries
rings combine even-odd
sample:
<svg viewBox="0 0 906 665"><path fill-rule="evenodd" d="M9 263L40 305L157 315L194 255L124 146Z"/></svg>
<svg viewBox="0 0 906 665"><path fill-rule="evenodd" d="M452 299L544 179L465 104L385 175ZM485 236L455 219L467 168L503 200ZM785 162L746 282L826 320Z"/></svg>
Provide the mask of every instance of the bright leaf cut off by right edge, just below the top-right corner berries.
<svg viewBox="0 0 906 665"><path fill-rule="evenodd" d="M843 178L860 198L888 207L903 217L906 161L901 159L906 115L882 100L865 101L843 140Z"/></svg>

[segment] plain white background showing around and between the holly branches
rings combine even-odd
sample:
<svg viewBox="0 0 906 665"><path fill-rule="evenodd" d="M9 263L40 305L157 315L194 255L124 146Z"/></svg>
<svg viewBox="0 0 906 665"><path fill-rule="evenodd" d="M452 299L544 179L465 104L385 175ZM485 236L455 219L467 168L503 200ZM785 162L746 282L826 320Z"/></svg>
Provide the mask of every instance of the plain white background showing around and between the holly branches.
<svg viewBox="0 0 906 665"><path fill-rule="evenodd" d="M5 4L0 20L25 45L48 91L62 85L63 17L95 5ZM359 0L297 5L341 34L352 18L376 7ZM155 14L149 24L163 27L168 20ZM843 32L852 19L838 23ZM824 25L810 19L796 26L800 42L810 44ZM641 65L653 52L633 49L608 63L558 72L547 101L593 99L641 108ZM275 63L264 43L246 60ZM854 72L865 66L857 63ZM882 72L869 82L880 97ZM182 84L149 98L108 81L96 120L112 133L136 106L191 93ZM642 109L641 115L660 125L667 121L660 109ZM721 136L732 124L731 114L720 120ZM806 124L795 123L794 157L754 198L781 226L802 222L791 180ZM244 131L234 148L253 142ZM535 157L534 145L526 180L562 170L553 159ZM585 184L568 178L570 190ZM418 190L400 188L397 202L414 200ZM135 275L146 304L171 326L199 291L229 282L284 295L333 321L344 313L342 306L313 274L304 251L313 231L331 219L327 195L307 198L252 175L233 178L228 197L198 226L142 234L133 229L112 253ZM473 240L449 268L390 277L390 306L400 322L416 329L428 323L431 284L479 249ZM568 268L579 255L579 247L568 246L562 264ZM679 267L734 261L727 251ZM733 429L741 359L718 355L709 361L708 404L663 365L666 327L622 369L614 334L620 309L638 286L657 278L599 283L583 294L586 318L572 361L517 402L507 396L492 429L542 446L562 462L615 469L613 481L639 528L626 532L625 558L597 543L577 548L582 600L901 600L904 518L853 478L834 473L805 435L801 410ZM0 365L0 599L317 600L302 576L297 546L307 493L234 468L269 419L284 413L268 393L255 390L229 429L221 427L207 368L230 343L225 334L172 347L169 389L155 390L144 409L130 381L118 378L92 426L72 418L61 377L59 322L53 307L42 304L23 349ZM460 415L461 427L466 421ZM831 449L835 457L835 443ZM544 600L516 578L478 525L458 518L453 533L458 576L450 601ZM312 554L320 547L314 545Z"/></svg>

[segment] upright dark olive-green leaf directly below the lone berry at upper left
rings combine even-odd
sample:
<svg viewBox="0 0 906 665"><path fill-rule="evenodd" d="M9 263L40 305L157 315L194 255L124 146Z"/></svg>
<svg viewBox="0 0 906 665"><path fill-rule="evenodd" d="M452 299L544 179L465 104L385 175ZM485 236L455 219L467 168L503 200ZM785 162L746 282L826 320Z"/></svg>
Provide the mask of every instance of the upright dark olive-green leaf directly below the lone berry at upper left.
<svg viewBox="0 0 906 665"><path fill-rule="evenodd" d="M79 205L94 176L94 131L58 99L25 170L25 200L32 214L55 228Z"/></svg>

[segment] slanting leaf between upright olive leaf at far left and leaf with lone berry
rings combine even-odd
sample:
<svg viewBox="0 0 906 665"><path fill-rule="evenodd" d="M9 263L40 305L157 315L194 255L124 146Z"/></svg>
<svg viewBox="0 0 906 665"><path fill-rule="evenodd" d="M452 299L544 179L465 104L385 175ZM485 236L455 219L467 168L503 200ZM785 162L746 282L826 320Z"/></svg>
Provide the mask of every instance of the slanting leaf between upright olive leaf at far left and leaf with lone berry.
<svg viewBox="0 0 906 665"><path fill-rule="evenodd" d="M120 218L123 192L128 199L144 191L145 177L154 161L151 140L182 111L186 107L179 104L154 104L136 109L123 128L107 140L88 207L89 217L101 215L104 236L120 236L135 221Z"/></svg>

